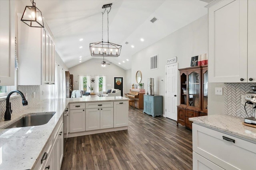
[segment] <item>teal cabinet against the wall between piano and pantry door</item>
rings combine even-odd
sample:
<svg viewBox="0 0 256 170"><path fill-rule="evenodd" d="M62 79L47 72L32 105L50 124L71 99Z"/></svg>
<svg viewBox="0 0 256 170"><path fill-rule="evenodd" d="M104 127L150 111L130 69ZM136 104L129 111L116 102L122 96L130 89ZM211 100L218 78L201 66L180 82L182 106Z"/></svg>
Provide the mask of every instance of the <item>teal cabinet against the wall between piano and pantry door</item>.
<svg viewBox="0 0 256 170"><path fill-rule="evenodd" d="M144 113L152 117L163 115L163 96L144 94Z"/></svg>

